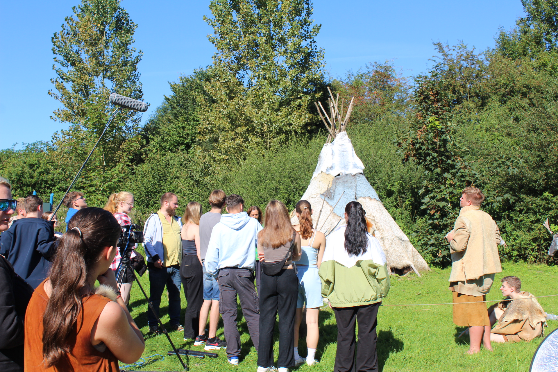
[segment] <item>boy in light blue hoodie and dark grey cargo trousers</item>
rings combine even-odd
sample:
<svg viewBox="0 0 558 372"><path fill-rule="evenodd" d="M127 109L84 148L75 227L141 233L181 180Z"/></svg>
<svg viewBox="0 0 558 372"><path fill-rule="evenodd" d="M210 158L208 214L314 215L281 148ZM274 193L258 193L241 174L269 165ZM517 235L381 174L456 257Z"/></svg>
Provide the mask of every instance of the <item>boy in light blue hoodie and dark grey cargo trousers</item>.
<svg viewBox="0 0 558 372"><path fill-rule="evenodd" d="M240 195L227 196L227 212L211 232L205 268L217 278L221 301L227 359L238 365L240 335L237 328L237 295L256 351L259 344L259 300L254 287L258 232L262 225L248 216Z"/></svg>

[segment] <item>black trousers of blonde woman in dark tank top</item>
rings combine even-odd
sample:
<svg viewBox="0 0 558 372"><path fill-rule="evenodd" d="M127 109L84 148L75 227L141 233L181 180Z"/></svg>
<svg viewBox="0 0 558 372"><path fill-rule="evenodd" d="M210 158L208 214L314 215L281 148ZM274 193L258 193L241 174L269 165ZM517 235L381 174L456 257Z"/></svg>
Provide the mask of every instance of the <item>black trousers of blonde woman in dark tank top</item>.
<svg viewBox="0 0 558 372"><path fill-rule="evenodd" d="M184 338L195 339L199 334L200 309L204 302L204 274L198 256L182 256L180 279L186 297Z"/></svg>

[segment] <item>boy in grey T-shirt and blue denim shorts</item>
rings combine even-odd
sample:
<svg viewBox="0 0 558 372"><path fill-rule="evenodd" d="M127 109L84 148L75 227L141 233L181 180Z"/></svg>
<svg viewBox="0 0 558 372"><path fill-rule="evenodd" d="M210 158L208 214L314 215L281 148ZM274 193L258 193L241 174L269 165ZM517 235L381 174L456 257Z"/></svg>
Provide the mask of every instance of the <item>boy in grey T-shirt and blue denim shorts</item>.
<svg viewBox="0 0 558 372"><path fill-rule="evenodd" d="M205 343L205 350L219 350L222 347L227 348L227 342L219 340L217 337L217 325L219 323L219 284L217 280L208 274L205 269L205 256L208 251L209 239L213 227L221 220L221 212L225 206L227 195L223 190L213 190L209 195L209 204L211 210L200 218L200 257L202 269L204 272L204 302L200 310L200 326L198 336L194 341L195 346ZM211 308L211 317L209 318L209 336L205 333L205 326L208 322L209 309ZM190 336L184 334L184 340Z"/></svg>

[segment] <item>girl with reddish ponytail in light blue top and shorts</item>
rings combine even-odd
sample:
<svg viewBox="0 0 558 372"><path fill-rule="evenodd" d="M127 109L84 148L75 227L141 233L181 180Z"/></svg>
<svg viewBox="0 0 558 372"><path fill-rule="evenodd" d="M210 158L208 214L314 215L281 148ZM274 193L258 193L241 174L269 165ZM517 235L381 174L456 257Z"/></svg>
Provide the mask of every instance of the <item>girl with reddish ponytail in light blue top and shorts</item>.
<svg viewBox="0 0 558 372"><path fill-rule="evenodd" d="M315 363L314 356L318 347L319 330L318 316L320 306L324 304L321 297L321 281L318 275L321 259L325 250L325 235L321 231L312 229L312 206L310 202L301 200L297 202L296 217L300 224L295 225L295 230L300 234L302 255L296 263L299 277L299 298L296 302L295 317L295 363L305 362L299 355L299 328L302 322L302 307L306 304L306 364Z"/></svg>

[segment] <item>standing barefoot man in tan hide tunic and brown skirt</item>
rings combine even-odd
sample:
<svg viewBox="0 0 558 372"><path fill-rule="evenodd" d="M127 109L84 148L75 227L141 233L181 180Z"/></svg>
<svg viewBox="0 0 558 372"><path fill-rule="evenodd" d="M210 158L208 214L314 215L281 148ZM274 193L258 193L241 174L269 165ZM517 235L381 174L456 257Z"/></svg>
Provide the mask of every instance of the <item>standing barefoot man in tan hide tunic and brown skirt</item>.
<svg viewBox="0 0 558 372"><path fill-rule="evenodd" d="M461 192L459 217L446 239L450 243L450 291L453 292L453 321L469 327L469 354L480 350L480 341L490 346L490 320L485 294L490 292L494 274L502 272L498 255L500 231L492 217L480 210L484 194L477 187ZM473 302L473 303L469 303Z"/></svg>

